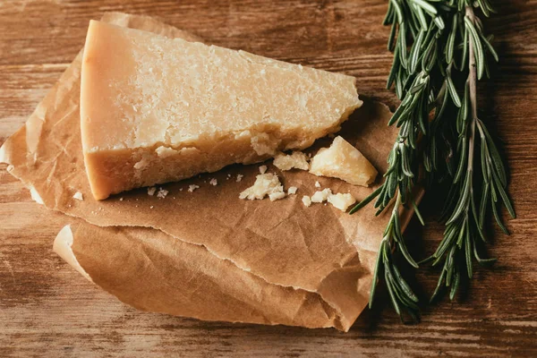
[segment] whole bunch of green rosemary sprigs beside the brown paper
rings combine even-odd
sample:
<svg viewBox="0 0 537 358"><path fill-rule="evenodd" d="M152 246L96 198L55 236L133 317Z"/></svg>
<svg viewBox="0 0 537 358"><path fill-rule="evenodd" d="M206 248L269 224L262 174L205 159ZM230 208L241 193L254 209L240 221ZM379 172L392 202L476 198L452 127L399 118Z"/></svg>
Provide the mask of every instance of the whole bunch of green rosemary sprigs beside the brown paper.
<svg viewBox="0 0 537 358"><path fill-rule="evenodd" d="M385 180L375 192L362 200L351 213L374 199L377 215L395 200L388 221L371 286L370 306L378 277L384 273L391 302L397 313L418 315L417 297L399 274L393 254L399 251L417 268L406 250L398 210L412 203L418 177L425 177L430 189L439 183L451 184L443 214L446 232L439 248L428 259L433 265L444 260L439 286L451 286L456 294L464 271L472 276L472 257L482 260L476 239L484 241L484 217L491 209L505 230L498 213L501 200L512 217L515 212L507 197L507 175L499 151L485 124L477 116L476 82L489 76L487 57L498 61L491 38L483 34L482 22L473 9L489 16L488 0L389 0L384 23L391 24L388 49L394 61L388 75L388 89L396 89L401 104L389 121L399 128L396 143L388 156ZM461 78L466 81L461 83ZM456 115L454 115L456 114ZM476 132L477 129L477 132ZM479 143L477 143L479 133ZM480 145L480 175L474 170L474 150ZM424 168L424 175L420 168ZM479 211L474 188L482 190ZM490 201L489 201L490 198ZM489 204L490 202L490 204Z"/></svg>

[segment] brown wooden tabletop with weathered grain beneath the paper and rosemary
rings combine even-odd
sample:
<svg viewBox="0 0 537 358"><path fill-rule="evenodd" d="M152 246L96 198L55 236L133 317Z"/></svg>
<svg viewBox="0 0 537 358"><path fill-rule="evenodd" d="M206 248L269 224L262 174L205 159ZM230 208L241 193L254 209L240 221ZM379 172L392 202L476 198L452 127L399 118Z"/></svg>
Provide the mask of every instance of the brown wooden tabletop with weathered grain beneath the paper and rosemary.
<svg viewBox="0 0 537 358"><path fill-rule="evenodd" d="M518 218L512 234L491 228L494 268L469 288L425 308L404 326L386 293L349 333L333 329L209 323L136 311L98 290L52 251L68 218L30 200L0 166L0 356L536 356L537 355L537 2L498 3L485 21L501 62L480 86L482 118L499 132L511 167ZM500 4L501 3L501 4ZM209 42L345 72L359 92L396 105L385 90L392 55L381 26L387 0L1 0L0 144L23 124L81 49L90 19L107 11L159 16ZM414 257L439 242L438 200L422 203L422 229L407 231ZM439 270L413 277L426 300Z"/></svg>

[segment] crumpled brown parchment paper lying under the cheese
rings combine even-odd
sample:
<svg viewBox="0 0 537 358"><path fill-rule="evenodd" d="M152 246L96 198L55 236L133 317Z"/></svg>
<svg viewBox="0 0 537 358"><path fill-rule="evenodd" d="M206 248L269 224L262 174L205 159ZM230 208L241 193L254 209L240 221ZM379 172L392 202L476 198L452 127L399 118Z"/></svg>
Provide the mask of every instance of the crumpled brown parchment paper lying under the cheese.
<svg viewBox="0 0 537 358"><path fill-rule="evenodd" d="M200 41L145 16L107 13L102 21ZM48 209L72 217L55 251L124 303L200 320L285 324L347 331L364 309L388 216L364 208L350 216L330 205L305 208L303 195L323 188L363 199L371 188L303 171L280 172L296 195L239 200L258 166L228 166L215 174L94 200L81 151L81 54L5 141L0 161ZM341 132L382 174L396 137L387 107L367 100ZM314 153L331 140L317 141ZM243 175L241 181L238 175ZM210 179L217 179L211 185ZM189 192L189 185L199 188ZM374 189L374 188L373 188ZM83 200L73 198L81 192ZM412 212L404 213L403 222Z"/></svg>

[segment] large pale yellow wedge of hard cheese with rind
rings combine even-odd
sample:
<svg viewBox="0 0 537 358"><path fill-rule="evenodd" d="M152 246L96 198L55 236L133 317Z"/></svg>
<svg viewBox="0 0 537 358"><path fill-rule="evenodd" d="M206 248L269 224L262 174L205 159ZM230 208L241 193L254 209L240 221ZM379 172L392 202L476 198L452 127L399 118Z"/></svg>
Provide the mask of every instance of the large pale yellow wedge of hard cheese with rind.
<svg viewBox="0 0 537 358"><path fill-rule="evenodd" d="M81 135L96 199L304 149L361 105L350 76L90 22Z"/></svg>

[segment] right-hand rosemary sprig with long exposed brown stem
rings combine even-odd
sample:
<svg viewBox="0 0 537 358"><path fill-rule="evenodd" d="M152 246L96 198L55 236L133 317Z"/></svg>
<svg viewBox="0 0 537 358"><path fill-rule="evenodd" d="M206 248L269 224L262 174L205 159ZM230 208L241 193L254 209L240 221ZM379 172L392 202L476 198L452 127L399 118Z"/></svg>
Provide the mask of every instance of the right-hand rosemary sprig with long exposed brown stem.
<svg viewBox="0 0 537 358"><path fill-rule="evenodd" d="M486 0L476 4L485 14L491 11ZM437 251L428 259L432 260L433 266L444 261L431 300L438 296L442 286L450 287L449 298L453 300L461 275L466 274L469 278L473 276L473 258L480 264L495 261L495 259L482 259L477 251L478 242L486 241L484 218L488 209L491 209L499 227L506 234L508 234L507 228L503 225L497 208L501 205L500 202L503 202L511 217L516 217L511 201L507 197L507 174L499 157L499 151L486 125L477 114L477 81L482 79L484 74L488 76L487 55L496 61L498 55L490 45L489 39L483 35L482 22L475 16L472 4L465 4L463 29L461 35L465 39L465 46L468 47L468 77L464 85L463 103L454 124L458 134L456 145L458 168L443 210L443 217L447 217L444 237ZM479 150L476 149L478 144L481 147ZM475 168L475 161L478 159L481 159L481 171ZM482 195L478 210L474 188L479 186L482 188Z"/></svg>

